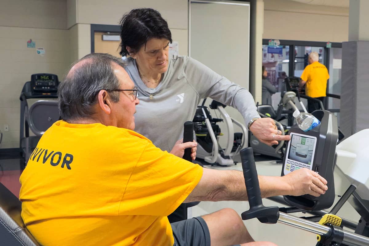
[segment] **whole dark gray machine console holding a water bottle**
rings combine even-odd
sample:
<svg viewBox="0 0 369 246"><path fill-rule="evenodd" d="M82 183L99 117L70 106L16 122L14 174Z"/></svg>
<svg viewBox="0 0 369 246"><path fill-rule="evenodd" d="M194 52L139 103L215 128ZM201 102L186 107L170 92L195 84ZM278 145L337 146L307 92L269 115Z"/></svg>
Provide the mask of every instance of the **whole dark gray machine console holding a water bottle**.
<svg viewBox="0 0 369 246"><path fill-rule="evenodd" d="M291 140L287 144L282 169L282 176L284 176L306 167L328 181L329 189L320 197L284 196L284 200L289 204L308 211L329 208L334 202L333 171L336 162L335 148L338 142L337 118L325 110L316 110L313 115L320 120L320 125L314 129L303 132L297 125L291 127L289 131Z"/></svg>

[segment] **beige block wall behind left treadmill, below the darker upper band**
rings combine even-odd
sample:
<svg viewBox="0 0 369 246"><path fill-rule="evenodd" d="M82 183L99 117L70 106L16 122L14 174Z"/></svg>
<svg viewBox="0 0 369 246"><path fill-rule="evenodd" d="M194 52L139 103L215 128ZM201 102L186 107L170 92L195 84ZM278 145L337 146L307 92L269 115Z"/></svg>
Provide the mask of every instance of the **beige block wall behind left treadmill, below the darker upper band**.
<svg viewBox="0 0 369 246"><path fill-rule="evenodd" d="M40 56L36 48L27 48L29 39L45 49ZM0 148L19 147L20 100L25 82L33 73L62 75L70 63L68 30L0 26ZM4 132L4 125L9 131Z"/></svg>

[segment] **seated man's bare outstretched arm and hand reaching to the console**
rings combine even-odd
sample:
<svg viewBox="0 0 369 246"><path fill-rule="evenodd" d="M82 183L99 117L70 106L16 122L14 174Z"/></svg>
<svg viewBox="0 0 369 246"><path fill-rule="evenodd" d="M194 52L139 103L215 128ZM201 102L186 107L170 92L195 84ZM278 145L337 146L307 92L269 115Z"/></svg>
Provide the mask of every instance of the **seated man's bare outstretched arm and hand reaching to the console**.
<svg viewBox="0 0 369 246"><path fill-rule="evenodd" d="M317 197L328 189L327 180L306 168L282 177L261 175L258 177L262 197L304 194ZM204 168L201 180L184 202L246 200L247 193L242 171Z"/></svg>

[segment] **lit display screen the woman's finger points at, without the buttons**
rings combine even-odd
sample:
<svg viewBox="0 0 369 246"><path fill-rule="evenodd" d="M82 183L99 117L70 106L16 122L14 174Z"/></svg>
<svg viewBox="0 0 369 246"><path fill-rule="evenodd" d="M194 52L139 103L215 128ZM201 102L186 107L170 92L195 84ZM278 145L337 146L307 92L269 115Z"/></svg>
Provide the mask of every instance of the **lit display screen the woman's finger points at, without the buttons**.
<svg viewBox="0 0 369 246"><path fill-rule="evenodd" d="M313 157L315 138L299 135L291 136L288 159L310 165Z"/></svg>

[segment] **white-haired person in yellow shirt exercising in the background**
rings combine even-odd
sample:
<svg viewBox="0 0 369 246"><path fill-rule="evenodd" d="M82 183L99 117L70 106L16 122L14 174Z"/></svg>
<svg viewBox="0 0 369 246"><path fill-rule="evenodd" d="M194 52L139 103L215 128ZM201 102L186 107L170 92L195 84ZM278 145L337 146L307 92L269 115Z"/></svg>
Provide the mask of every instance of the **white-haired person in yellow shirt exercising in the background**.
<svg viewBox="0 0 369 246"><path fill-rule="evenodd" d="M324 104L327 80L329 79L328 69L323 64L319 63L318 52L311 52L308 57L308 63L301 75L300 88L305 85L305 94L309 97L314 97L322 101ZM319 103L308 100L308 111L311 113L314 110L320 109Z"/></svg>

